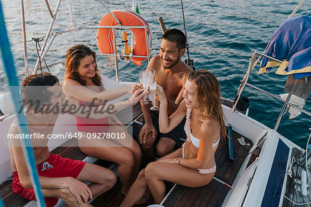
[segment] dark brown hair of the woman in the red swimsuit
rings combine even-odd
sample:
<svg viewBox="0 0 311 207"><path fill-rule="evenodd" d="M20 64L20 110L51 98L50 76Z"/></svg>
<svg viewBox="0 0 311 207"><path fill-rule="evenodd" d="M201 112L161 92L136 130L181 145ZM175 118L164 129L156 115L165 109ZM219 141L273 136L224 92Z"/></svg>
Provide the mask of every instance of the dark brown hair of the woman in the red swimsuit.
<svg viewBox="0 0 311 207"><path fill-rule="evenodd" d="M95 52L83 44L75 44L68 49L66 53L65 80L70 78L76 80L82 84L82 86L86 86L85 81L79 78L79 75L77 74L77 68L80 64L80 60L88 55L92 55L95 61L95 76L91 78L92 82L97 86L102 86L102 78L100 77L100 70L97 68Z"/></svg>

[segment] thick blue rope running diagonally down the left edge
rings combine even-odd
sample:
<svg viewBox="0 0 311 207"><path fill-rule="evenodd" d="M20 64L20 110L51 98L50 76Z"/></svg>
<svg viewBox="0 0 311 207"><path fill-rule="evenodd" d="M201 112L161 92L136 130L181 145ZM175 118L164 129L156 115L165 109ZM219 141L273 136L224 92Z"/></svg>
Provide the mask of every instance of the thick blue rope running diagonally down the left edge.
<svg viewBox="0 0 311 207"><path fill-rule="evenodd" d="M4 69L6 71L6 76L8 77L8 84L11 91L11 96L13 102L15 103L15 112L17 114L17 119L19 120L19 125L21 127L21 133L29 134L27 125L21 126L21 123L26 123L26 117L23 113L18 113L21 108L21 94L18 90L14 89L19 86L19 82L17 80L17 73L14 66L13 56L10 50L10 42L8 39L8 33L6 31L6 23L3 17L2 4L0 0L0 48L1 48L1 56L4 64ZM38 206L46 206L44 201L44 196L41 192L41 186L39 183L39 177L37 172L37 165L35 163L35 156L31 147L31 140L27 138L21 138L21 142L23 144L23 153L25 154L26 162L28 163L28 170L30 174L30 178L32 180L32 187L35 190L35 194L37 197ZM30 147L28 147L30 146Z"/></svg>

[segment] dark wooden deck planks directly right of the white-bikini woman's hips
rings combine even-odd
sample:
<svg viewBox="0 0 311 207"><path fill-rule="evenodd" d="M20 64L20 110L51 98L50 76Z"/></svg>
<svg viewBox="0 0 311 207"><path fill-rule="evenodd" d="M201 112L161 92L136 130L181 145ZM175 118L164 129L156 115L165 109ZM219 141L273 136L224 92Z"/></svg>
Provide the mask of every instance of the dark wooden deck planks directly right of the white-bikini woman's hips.
<svg viewBox="0 0 311 207"><path fill-rule="evenodd" d="M245 160L245 155L249 152L245 146L241 146L237 139L241 137L241 134L233 132L233 143L234 152L241 157L235 156L235 159L230 163L227 159L227 142L221 140L216 150L216 165L217 170L215 177L225 181L230 186L234 182L243 162ZM245 138L246 143L252 142ZM207 186L201 188L187 188L184 186L177 185L176 188L171 192L166 201L164 201L164 206L221 206L229 188L223 183L216 180L212 180ZM186 206L186 205L185 205Z"/></svg>

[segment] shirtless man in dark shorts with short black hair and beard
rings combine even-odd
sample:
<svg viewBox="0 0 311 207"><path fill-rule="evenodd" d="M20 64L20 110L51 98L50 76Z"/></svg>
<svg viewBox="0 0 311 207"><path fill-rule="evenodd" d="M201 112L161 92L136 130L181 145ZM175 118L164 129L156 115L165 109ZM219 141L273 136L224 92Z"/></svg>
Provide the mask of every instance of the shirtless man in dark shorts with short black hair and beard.
<svg viewBox="0 0 311 207"><path fill-rule="evenodd" d="M160 55L153 56L147 67L156 70L155 78L167 95L169 115L176 111L182 101L183 77L191 71L190 67L181 61L182 55L185 54L185 47L184 33L177 29L168 30L162 36ZM180 144L179 138L182 136L185 125L185 121L182 121L171 132L162 134L159 131L158 111L149 109L149 104L142 104L145 123L139 134L142 153L148 162L156 159L156 152L160 156L172 152L175 145Z"/></svg>

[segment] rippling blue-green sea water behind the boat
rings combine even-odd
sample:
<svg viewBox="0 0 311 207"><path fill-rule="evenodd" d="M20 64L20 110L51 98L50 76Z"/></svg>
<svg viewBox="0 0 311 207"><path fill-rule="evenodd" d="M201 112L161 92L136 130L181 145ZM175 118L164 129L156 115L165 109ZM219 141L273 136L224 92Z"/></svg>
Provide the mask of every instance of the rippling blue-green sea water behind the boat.
<svg viewBox="0 0 311 207"><path fill-rule="evenodd" d="M54 11L57 1L48 1ZM131 1L104 1L111 10L130 9ZM15 58L15 66L18 73L24 71L23 44L21 30L20 1L1 1L6 26L8 28L12 53ZM288 18L299 1L275 0L223 0L223 1L199 1L184 0L185 22L189 43L189 56L194 60L196 69L208 69L216 75L220 83L221 96L234 99L249 65L252 49L264 51L267 42L274 30ZM57 14L53 32L66 30L70 24L68 5L73 8L73 20L78 27L97 25L106 14L105 8L97 0L62 1ZM167 28L184 30L182 21L181 3L179 0L144 0L138 1L140 14L149 23L152 33L151 56L159 53L162 32L158 24L158 17L162 17ZM310 15L311 3L306 1L298 15ZM26 39L32 37L44 37L50 25L50 15L46 4L41 0L32 0L30 8L26 11ZM118 52L122 47L122 34L117 39ZM42 45L43 42L40 42ZM46 55L47 64L65 60L66 50L73 44L86 44L94 51L97 49L96 30L81 30L77 33L57 35L55 42ZM28 69L33 69L37 60L35 42L28 42ZM184 55L182 60L185 60ZM114 69L106 67L106 59L98 57L97 64L102 73L115 79ZM120 80L138 82L138 71L146 69L147 61L138 67L124 60L118 62L120 67ZM44 63L42 63L44 66ZM50 71L64 79L64 64L50 67ZM46 69L44 69L46 71ZM261 87L276 95L285 93L283 88L287 77L276 75L274 69L269 74L256 75L258 66L250 75L249 83ZM24 75L19 75L22 80ZM8 82L0 62L0 90L7 91ZM281 102L270 98L249 87L245 88L243 96L251 101L249 116L259 120L268 127L274 127L282 108ZM304 109L311 111L311 98L306 100ZM301 116L288 120L285 114L279 126L279 132L294 141L298 145L305 146L310 134L311 121L309 116Z"/></svg>

